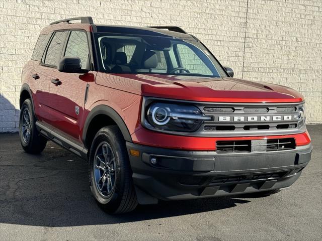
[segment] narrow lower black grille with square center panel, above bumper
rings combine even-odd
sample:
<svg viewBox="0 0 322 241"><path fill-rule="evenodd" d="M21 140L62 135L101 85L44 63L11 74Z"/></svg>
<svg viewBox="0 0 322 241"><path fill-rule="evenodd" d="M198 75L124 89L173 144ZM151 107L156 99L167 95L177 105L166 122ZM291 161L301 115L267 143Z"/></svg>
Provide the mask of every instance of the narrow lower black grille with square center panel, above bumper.
<svg viewBox="0 0 322 241"><path fill-rule="evenodd" d="M252 141L217 141L217 153L240 153L252 152ZM268 139L263 144L256 144L256 149L260 151L285 151L295 149L295 140L293 138Z"/></svg>

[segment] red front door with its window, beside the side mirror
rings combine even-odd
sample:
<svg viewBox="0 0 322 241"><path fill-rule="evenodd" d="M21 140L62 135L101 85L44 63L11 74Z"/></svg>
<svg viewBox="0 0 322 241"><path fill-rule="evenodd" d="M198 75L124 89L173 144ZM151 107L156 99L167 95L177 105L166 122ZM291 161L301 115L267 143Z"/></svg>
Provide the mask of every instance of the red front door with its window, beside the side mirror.
<svg viewBox="0 0 322 241"><path fill-rule="evenodd" d="M61 57L78 57L83 69L90 69L90 50L88 34L82 30L68 33ZM79 140L83 118L85 93L89 81L94 81L94 74L63 73L53 70L52 80L59 80L60 85L50 84L49 106L52 110L51 125L56 129Z"/></svg>

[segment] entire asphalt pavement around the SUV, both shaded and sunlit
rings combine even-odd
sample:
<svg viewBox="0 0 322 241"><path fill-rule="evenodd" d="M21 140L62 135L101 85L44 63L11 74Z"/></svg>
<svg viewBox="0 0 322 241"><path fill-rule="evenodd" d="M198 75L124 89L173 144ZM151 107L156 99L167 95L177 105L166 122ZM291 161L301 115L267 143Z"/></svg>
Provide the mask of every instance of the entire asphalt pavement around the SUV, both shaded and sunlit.
<svg viewBox="0 0 322 241"><path fill-rule="evenodd" d="M88 165L48 142L25 153L0 134L0 240L322 240L322 125L308 126L312 160L290 188L264 198L217 197L108 215Z"/></svg>

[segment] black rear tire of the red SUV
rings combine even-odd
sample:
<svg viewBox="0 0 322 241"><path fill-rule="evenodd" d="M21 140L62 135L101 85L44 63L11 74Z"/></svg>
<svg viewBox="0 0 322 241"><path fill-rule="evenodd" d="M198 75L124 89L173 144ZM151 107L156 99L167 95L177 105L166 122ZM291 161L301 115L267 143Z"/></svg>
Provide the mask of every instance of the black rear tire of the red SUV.
<svg viewBox="0 0 322 241"><path fill-rule="evenodd" d="M29 128L28 138L26 138L25 135L26 125L24 125L24 123L26 124L26 119L24 118L24 114L26 116L29 116L29 124L27 125ZM39 154L46 147L47 139L41 136L36 129L36 116L34 114L34 110L30 99L26 99L21 106L19 118L19 136L21 146L27 153Z"/></svg>

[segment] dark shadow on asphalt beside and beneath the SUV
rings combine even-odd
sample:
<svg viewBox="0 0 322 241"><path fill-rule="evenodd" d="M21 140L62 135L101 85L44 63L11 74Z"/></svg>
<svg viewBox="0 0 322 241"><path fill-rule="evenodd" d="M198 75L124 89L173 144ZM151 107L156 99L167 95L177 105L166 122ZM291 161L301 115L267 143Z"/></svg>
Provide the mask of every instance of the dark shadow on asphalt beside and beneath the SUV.
<svg viewBox="0 0 322 241"><path fill-rule="evenodd" d="M249 201L237 198L168 201L108 215L95 203L87 163L48 142L41 155L21 150L18 134L0 135L0 222L34 226L79 226L135 222L208 212Z"/></svg>

